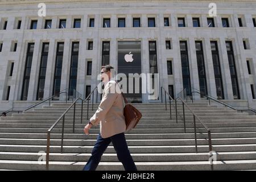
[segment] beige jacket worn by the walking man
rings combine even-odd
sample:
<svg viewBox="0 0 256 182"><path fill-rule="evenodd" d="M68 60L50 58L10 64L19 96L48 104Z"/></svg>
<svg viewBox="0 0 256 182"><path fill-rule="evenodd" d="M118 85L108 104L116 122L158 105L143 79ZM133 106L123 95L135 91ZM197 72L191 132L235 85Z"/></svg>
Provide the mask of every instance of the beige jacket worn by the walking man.
<svg viewBox="0 0 256 182"><path fill-rule="evenodd" d="M123 115L124 107L125 102L123 101L119 86L117 86L115 81L110 80L105 85L102 93L102 100L96 113L90 118L90 122L94 126L97 126L98 123L100 123L100 133L102 138L112 137L115 134L125 132L126 124L125 116Z"/></svg>

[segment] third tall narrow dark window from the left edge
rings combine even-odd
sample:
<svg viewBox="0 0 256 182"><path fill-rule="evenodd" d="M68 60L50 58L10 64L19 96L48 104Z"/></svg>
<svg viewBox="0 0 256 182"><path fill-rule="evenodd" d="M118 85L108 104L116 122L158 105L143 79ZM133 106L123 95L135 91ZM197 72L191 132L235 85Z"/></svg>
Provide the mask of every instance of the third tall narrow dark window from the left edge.
<svg viewBox="0 0 256 182"><path fill-rule="evenodd" d="M57 51L56 51L56 60L55 60L55 73L53 79L53 95L55 95L55 99L59 100L60 96L60 81L61 81L61 71L62 71L62 63L63 63L63 52L64 52L64 42L57 43Z"/></svg>

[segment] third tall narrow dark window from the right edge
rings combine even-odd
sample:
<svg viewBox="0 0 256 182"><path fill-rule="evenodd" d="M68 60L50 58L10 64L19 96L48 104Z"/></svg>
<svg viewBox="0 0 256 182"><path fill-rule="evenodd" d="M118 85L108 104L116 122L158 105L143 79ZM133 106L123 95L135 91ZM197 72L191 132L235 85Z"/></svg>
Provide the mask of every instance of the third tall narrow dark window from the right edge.
<svg viewBox="0 0 256 182"><path fill-rule="evenodd" d="M207 78L205 74L203 44L201 41L196 41L195 44L200 92L207 95ZM201 97L203 97L203 95L201 95Z"/></svg>

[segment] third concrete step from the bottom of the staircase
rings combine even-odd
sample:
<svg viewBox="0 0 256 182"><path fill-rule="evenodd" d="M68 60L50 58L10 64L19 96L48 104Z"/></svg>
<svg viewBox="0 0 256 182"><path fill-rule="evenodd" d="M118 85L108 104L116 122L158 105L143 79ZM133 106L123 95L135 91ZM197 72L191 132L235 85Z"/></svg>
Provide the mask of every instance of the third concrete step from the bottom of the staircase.
<svg viewBox="0 0 256 182"><path fill-rule="evenodd" d="M15 145L0 144L2 152L39 152L46 151L45 145ZM216 144L213 145L216 152L255 151L256 144ZM128 146L131 153L183 153L195 152L195 145L185 146ZM90 153L93 146L63 146L63 152ZM197 146L198 152L209 152L208 145ZM60 146L50 146L51 152L60 152ZM105 153L115 153L114 147L109 146Z"/></svg>

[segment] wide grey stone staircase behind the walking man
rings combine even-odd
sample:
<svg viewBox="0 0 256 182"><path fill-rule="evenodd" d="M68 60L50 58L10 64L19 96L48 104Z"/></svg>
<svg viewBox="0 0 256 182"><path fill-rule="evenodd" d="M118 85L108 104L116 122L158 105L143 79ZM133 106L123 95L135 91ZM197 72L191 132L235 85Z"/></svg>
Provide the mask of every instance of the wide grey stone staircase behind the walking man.
<svg viewBox="0 0 256 182"><path fill-rule="evenodd" d="M47 130L69 107L69 104L52 104L43 108L0 117L0 169L45 170L45 162L38 162L39 151L46 151ZM164 104L133 104L143 114L137 127L126 133L127 144L138 170L210 170L208 135L197 121L198 152L195 152L193 116L185 107L186 131L182 120L182 104L175 107ZM188 103L189 107L205 122L212 133L213 151L217 152L214 170L256 169L256 116L237 113L236 110L206 102ZM60 122L51 134L50 170L81 170L90 157L90 152L99 127L83 133L87 104L83 109L76 105L76 127L73 133L73 109L65 117L64 146L60 153ZM97 105L89 104L89 118ZM101 158L97 170L123 170L112 144Z"/></svg>

